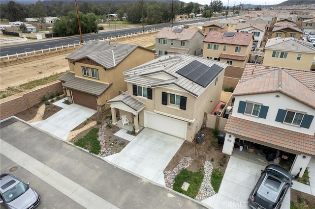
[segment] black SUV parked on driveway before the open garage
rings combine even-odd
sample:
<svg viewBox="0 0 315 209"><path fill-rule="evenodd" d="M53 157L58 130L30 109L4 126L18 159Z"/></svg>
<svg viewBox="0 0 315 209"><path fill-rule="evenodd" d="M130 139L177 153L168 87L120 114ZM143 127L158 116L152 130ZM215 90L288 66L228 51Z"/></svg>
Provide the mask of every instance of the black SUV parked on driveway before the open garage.
<svg viewBox="0 0 315 209"><path fill-rule="evenodd" d="M292 176L279 165L268 165L253 188L248 204L252 209L280 209L284 196L292 186Z"/></svg>

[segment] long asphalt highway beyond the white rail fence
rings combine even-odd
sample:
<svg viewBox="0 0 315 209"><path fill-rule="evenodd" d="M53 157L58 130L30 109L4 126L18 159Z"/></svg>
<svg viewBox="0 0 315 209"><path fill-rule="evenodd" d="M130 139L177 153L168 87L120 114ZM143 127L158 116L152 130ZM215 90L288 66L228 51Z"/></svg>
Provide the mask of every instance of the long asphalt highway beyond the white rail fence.
<svg viewBox="0 0 315 209"><path fill-rule="evenodd" d="M230 17L230 16L227 16ZM222 17L217 18L211 18L211 21L218 20ZM193 23L200 23L200 22L206 22L209 21L208 18L203 19L195 19L191 21L181 21L181 22L174 22L173 26L180 26L180 25L186 25L186 24L193 24ZM150 25L150 26L144 26L144 30L156 30L160 29L162 27L170 27L170 23L165 24L158 24L158 25ZM111 28L115 28L115 24L112 23ZM126 28L126 29L120 29L120 30L110 30L110 31L102 31L99 33L89 33L89 34L83 34L83 41L87 42L89 40L98 40L98 39L107 39L110 37L115 37L116 35L125 35L125 34L132 34L142 31L142 26L139 27L133 27L133 28ZM17 45L9 45L9 46L3 46L1 47L0 56L6 56L6 55L12 55L16 53L24 53L24 52L33 52L38 51L41 49L49 49L49 48L55 48L55 47L61 47L61 46L67 46L73 45L73 44L79 44L80 43L80 36L70 36L70 37L64 37L64 38L58 38L58 39L47 39L45 41L39 41L39 42L31 42L26 44L17 44Z"/></svg>

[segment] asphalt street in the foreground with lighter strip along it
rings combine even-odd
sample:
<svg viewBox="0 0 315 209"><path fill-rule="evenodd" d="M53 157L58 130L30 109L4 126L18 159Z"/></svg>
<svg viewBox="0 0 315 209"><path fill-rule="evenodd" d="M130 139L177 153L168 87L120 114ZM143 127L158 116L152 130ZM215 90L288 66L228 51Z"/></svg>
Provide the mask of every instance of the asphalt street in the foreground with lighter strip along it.
<svg viewBox="0 0 315 209"><path fill-rule="evenodd" d="M21 121L1 123L0 136L1 172L31 181L39 208L205 208Z"/></svg>

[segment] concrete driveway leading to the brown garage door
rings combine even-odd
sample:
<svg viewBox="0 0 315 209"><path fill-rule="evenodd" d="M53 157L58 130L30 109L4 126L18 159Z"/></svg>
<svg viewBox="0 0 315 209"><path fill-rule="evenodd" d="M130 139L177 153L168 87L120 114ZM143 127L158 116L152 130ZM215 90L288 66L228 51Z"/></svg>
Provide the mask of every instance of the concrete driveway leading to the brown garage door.
<svg viewBox="0 0 315 209"><path fill-rule="evenodd" d="M46 120L32 123L32 125L55 137L66 140L71 130L94 114L94 109L79 104L70 104Z"/></svg>

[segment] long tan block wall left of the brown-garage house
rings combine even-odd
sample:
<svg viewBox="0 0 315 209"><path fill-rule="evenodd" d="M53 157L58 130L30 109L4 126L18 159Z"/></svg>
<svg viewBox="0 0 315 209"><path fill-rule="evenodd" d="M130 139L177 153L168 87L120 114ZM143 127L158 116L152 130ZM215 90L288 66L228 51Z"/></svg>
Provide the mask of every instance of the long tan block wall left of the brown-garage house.
<svg viewBox="0 0 315 209"><path fill-rule="evenodd" d="M22 112L41 102L41 97L48 96L56 92L63 94L63 86L61 81L40 87L33 91L27 92L20 97L0 103L0 119L4 119Z"/></svg>

